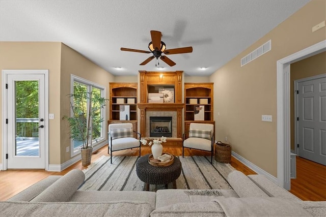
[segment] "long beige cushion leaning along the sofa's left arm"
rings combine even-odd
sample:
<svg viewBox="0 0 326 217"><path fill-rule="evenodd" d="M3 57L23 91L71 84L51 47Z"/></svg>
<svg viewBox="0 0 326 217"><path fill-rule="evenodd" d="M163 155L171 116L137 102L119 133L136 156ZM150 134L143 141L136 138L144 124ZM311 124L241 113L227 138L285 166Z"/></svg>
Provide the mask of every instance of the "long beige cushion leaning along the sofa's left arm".
<svg viewBox="0 0 326 217"><path fill-rule="evenodd" d="M78 169L73 169L58 179L55 183L51 184L50 187L36 196L31 200L31 202L68 201L84 180L84 172Z"/></svg>

